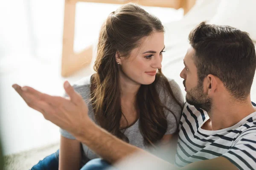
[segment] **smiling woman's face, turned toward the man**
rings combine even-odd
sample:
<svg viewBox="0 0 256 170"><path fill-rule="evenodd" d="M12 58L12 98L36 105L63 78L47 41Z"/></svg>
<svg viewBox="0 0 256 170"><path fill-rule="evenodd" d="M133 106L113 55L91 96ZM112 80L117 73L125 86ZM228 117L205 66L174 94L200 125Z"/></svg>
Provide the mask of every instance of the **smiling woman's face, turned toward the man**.
<svg viewBox="0 0 256 170"><path fill-rule="evenodd" d="M154 32L143 38L142 45L134 48L129 57L116 57L116 62L120 64L120 76L137 84L151 84L157 69L162 67L164 48L163 32Z"/></svg>

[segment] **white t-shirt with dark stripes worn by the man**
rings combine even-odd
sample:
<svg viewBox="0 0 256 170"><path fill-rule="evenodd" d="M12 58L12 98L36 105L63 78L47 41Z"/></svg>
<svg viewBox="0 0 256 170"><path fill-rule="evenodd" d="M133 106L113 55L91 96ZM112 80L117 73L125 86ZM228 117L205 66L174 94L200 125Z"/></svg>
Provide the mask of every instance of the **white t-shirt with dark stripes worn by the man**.
<svg viewBox="0 0 256 170"><path fill-rule="evenodd" d="M253 105L256 108L256 104ZM240 170L255 170L256 111L221 130L202 129L208 119L206 111L185 104L179 125L176 166L223 156Z"/></svg>

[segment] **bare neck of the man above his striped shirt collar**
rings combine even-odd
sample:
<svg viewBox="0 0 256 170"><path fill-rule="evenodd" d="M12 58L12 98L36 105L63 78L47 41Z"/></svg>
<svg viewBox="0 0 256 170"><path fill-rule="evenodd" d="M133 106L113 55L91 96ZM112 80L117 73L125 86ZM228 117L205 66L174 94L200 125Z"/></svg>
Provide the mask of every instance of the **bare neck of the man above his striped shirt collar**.
<svg viewBox="0 0 256 170"><path fill-rule="evenodd" d="M220 130L236 125L246 116L255 112L250 96L244 102L235 100L216 100L212 104L209 118L212 130Z"/></svg>

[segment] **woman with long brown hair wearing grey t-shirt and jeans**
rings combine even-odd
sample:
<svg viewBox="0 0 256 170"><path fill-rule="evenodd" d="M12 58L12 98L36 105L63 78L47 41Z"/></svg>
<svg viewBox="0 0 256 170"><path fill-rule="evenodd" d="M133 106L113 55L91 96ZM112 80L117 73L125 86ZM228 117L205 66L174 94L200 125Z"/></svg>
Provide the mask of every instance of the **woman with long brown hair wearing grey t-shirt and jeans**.
<svg viewBox="0 0 256 170"><path fill-rule="evenodd" d="M161 72L164 28L157 17L134 4L112 12L103 24L96 71L75 83L90 118L115 136L140 148L169 144L177 131L183 96ZM78 170L98 158L70 133L61 131L61 147L32 170ZM56 157L55 157L56 156ZM82 164L81 164L82 162Z"/></svg>

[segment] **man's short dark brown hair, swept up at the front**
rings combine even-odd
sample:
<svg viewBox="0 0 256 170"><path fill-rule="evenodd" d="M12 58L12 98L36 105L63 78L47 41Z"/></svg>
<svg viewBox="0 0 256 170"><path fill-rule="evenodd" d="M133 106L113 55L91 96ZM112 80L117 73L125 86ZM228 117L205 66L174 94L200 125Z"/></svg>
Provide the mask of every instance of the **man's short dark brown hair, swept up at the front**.
<svg viewBox="0 0 256 170"><path fill-rule="evenodd" d="M195 50L198 81L212 74L221 79L232 96L245 100L256 70L255 46L249 34L202 22L190 32L189 42Z"/></svg>

